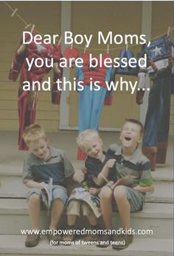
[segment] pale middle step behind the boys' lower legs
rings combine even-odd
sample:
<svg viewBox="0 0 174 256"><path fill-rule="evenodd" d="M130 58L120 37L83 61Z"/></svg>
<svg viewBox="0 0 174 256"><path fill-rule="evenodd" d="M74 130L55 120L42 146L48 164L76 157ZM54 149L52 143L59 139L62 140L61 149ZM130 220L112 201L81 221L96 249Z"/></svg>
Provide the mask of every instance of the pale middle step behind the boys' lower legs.
<svg viewBox="0 0 174 256"><path fill-rule="evenodd" d="M65 225L66 216L62 223ZM114 228L120 226L119 215L113 215ZM144 235L152 238L171 238L173 233L173 203L145 203L141 212L131 213L131 227L137 229L152 229L153 235ZM81 221L81 226L87 220ZM49 218L47 211L41 212L41 229L48 229ZM0 234L21 235L21 229L30 229L27 202L24 199L0 199ZM143 237L144 237L143 236Z"/></svg>

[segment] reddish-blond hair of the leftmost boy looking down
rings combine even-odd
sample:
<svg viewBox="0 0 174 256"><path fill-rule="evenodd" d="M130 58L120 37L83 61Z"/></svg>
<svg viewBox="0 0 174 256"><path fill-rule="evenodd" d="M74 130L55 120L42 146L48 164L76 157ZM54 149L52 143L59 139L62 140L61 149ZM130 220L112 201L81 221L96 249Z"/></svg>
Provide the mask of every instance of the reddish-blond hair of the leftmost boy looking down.
<svg viewBox="0 0 174 256"><path fill-rule="evenodd" d="M40 139L47 141L46 133L39 124L31 124L29 127L25 127L23 138L27 145L33 141L39 141Z"/></svg>

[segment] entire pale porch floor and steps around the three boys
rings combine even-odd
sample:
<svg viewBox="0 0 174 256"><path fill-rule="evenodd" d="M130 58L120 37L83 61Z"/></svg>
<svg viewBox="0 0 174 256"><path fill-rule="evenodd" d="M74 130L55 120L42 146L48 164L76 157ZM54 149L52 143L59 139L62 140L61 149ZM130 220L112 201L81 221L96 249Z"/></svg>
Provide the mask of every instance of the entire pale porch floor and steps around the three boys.
<svg viewBox="0 0 174 256"><path fill-rule="evenodd" d="M77 161L76 131L47 132L49 144L64 149L75 169L83 166ZM100 132L104 149L119 141L119 132ZM24 246L20 229L29 228L27 189L21 182L24 155L18 151L18 132L0 132L0 255L173 255L173 138L169 139L167 163L152 172L155 191L147 195L145 209L131 215L131 224L139 229L153 229L152 236L136 236L128 249L116 252L109 246L49 246L46 238L36 248ZM118 215L113 216L114 223ZM48 223L41 216L41 228Z"/></svg>

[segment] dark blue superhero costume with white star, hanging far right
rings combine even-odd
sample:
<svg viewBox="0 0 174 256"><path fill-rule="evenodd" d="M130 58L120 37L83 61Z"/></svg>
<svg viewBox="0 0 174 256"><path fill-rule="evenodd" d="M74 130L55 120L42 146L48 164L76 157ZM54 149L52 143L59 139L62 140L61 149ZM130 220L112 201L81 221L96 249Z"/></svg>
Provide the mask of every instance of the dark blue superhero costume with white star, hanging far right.
<svg viewBox="0 0 174 256"><path fill-rule="evenodd" d="M147 69L139 70L139 91L136 103L142 104L145 87L145 76L148 74L153 81L148 98L145 118L145 135L142 152L150 159L150 169L155 170L156 163L165 164L167 141L170 125L170 95L173 67L173 44L167 36L152 41L142 48L147 54Z"/></svg>

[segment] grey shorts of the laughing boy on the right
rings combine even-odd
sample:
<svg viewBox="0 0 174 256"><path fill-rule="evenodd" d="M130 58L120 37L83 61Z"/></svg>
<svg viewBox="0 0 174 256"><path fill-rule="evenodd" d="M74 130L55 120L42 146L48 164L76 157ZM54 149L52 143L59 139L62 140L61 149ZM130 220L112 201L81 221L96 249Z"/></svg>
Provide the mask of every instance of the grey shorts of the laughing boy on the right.
<svg viewBox="0 0 174 256"><path fill-rule="evenodd" d="M124 186L124 187L126 190L128 201L130 203L130 212L141 211L144 203L144 195L141 192L130 188L129 186ZM116 205L116 202L113 203L113 209L114 209L114 212L118 212L118 207Z"/></svg>

